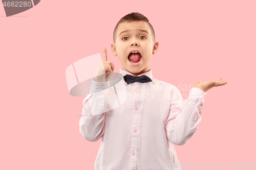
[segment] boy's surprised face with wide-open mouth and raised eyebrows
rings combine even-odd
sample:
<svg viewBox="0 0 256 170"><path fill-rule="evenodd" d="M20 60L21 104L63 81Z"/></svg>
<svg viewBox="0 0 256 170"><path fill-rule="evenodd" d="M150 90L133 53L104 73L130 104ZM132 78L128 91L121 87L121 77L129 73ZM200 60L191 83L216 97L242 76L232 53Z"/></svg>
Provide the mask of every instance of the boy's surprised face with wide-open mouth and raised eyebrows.
<svg viewBox="0 0 256 170"><path fill-rule="evenodd" d="M159 43L153 41L147 22L124 21L118 26L116 40L111 44L111 50L114 56L118 56L122 69L137 76L148 71L151 56L156 54L158 46ZM136 64L129 60L131 51L137 51L141 55L140 61Z"/></svg>

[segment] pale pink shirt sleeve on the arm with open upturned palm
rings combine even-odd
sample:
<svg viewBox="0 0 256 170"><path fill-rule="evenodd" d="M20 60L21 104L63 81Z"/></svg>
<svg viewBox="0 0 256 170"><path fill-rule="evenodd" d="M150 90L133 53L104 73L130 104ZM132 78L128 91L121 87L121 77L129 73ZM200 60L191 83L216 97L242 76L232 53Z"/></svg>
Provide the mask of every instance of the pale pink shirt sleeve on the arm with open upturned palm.
<svg viewBox="0 0 256 170"><path fill-rule="evenodd" d="M182 145L190 139L201 122L202 106L207 92L193 87L188 99L183 101L177 87L172 90L170 110L165 124L168 140L176 145Z"/></svg>

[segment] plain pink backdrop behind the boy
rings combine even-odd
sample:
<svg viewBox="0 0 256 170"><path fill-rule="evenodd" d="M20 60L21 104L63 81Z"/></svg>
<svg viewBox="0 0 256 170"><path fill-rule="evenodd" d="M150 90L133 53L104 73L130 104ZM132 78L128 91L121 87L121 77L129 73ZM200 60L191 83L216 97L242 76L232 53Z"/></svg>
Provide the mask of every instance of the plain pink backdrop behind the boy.
<svg viewBox="0 0 256 170"><path fill-rule="evenodd" d="M175 145L180 163L225 163L225 169L256 163L255 6L254 0L43 0L6 17L1 5L0 169L94 169L101 139L90 142L80 134L84 97L69 94L65 70L102 56L106 47L119 72L110 44L116 23L131 12L145 15L155 29L154 78L176 87L221 76L228 81L207 91L197 132Z"/></svg>

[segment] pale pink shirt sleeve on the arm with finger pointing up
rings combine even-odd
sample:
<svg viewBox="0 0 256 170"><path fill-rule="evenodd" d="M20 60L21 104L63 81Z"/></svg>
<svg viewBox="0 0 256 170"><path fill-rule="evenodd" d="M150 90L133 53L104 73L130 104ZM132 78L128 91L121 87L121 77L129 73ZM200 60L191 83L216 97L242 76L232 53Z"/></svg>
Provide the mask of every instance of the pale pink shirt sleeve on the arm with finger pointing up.
<svg viewBox="0 0 256 170"><path fill-rule="evenodd" d="M104 134L105 123L105 82L92 81L90 93L83 100L79 131L88 141L97 141Z"/></svg>

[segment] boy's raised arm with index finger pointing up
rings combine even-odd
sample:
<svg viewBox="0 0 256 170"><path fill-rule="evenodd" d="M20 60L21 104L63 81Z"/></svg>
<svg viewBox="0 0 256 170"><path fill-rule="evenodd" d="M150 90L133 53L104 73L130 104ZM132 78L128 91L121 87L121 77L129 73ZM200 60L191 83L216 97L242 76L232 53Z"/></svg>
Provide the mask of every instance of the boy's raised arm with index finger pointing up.
<svg viewBox="0 0 256 170"><path fill-rule="evenodd" d="M90 93L83 100L82 117L79 131L89 141L97 141L104 134L105 124L105 90L109 88L109 76L115 69L114 63L107 61L106 48L103 49L102 63L97 65L95 79L92 80ZM110 74L111 75L111 74ZM107 80L106 80L107 79Z"/></svg>

